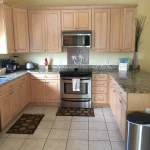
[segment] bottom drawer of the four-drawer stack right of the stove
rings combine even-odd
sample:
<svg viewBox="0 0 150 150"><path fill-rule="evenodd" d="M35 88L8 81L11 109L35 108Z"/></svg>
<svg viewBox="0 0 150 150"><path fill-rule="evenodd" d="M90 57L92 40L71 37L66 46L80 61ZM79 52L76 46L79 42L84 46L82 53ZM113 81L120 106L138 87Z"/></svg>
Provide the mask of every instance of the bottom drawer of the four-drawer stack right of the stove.
<svg viewBox="0 0 150 150"><path fill-rule="evenodd" d="M92 103L107 103L106 94L92 94Z"/></svg>

